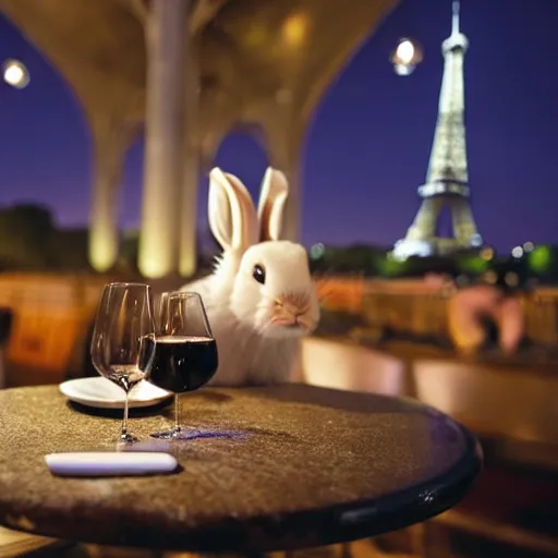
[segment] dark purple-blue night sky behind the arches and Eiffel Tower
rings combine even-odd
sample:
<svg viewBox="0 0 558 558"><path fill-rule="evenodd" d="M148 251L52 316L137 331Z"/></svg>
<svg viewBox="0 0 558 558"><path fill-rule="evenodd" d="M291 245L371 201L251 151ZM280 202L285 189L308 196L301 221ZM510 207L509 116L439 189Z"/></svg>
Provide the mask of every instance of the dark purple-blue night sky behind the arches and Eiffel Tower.
<svg viewBox="0 0 558 558"><path fill-rule="evenodd" d="M71 1L71 0L69 0ZM450 0L403 0L355 54L318 107L304 156L303 242L391 244L418 208L434 134ZM480 232L498 250L558 243L557 0L463 0L470 182ZM409 77L388 61L401 36L425 59ZM24 90L0 85L0 205L39 202L63 226L85 223L90 142L57 72L0 17L0 59L27 64ZM121 225L140 221L142 143L126 161ZM216 163L252 191L265 155L243 135ZM205 220L206 184L199 215Z"/></svg>

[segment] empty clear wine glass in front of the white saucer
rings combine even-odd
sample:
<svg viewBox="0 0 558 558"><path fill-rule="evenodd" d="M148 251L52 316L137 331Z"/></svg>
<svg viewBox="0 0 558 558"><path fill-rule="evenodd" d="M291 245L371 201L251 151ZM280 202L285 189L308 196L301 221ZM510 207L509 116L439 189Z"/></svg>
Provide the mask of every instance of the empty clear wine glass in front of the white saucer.
<svg viewBox="0 0 558 558"><path fill-rule="evenodd" d="M97 372L124 391L124 416L119 441L136 441L128 432L129 395L145 378L155 356L155 320L149 286L105 286L90 352Z"/></svg>

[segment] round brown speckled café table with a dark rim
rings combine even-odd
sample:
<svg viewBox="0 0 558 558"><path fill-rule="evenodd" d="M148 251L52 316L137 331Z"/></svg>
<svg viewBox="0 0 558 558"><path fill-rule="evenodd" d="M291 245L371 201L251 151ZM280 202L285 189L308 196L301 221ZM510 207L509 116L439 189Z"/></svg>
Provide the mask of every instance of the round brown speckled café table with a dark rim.
<svg viewBox="0 0 558 558"><path fill-rule="evenodd" d="M293 384L202 389L182 408L185 424L238 436L173 442L172 475L63 478L44 456L98 449L120 418L76 410L56 386L0 391L0 523L110 546L288 550L422 522L482 469L476 439L413 400ZM171 411L130 428L147 438Z"/></svg>

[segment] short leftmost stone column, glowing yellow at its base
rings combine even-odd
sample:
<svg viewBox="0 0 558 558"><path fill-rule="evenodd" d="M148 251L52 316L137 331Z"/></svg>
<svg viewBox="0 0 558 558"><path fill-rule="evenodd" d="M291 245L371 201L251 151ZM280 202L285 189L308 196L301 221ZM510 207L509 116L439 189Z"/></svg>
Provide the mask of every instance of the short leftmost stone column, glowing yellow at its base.
<svg viewBox="0 0 558 558"><path fill-rule="evenodd" d="M89 263L105 272L117 263L120 180L132 134L118 122L94 122L94 181L89 220Z"/></svg>

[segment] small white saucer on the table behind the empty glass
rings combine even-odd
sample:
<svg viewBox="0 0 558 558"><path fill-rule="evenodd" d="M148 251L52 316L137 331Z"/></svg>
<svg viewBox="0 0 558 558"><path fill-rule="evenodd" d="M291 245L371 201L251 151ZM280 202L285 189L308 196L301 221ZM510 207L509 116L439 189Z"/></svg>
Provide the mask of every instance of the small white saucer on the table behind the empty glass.
<svg viewBox="0 0 558 558"><path fill-rule="evenodd" d="M58 386L60 391L71 401L82 405L99 409L123 409L124 392L109 379L98 376L76 378L63 381ZM172 393L158 388L147 380L142 380L129 397L130 409L151 407L172 397Z"/></svg>

